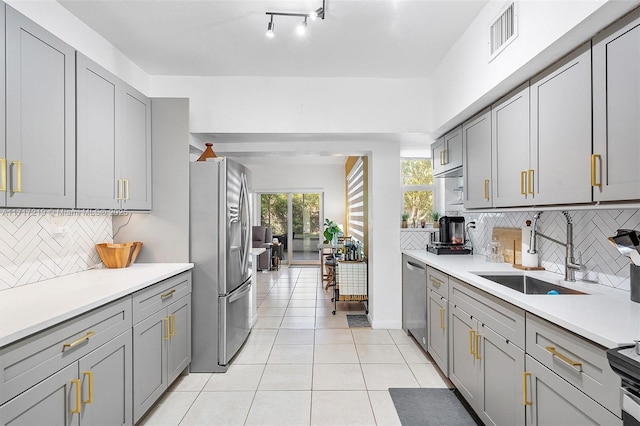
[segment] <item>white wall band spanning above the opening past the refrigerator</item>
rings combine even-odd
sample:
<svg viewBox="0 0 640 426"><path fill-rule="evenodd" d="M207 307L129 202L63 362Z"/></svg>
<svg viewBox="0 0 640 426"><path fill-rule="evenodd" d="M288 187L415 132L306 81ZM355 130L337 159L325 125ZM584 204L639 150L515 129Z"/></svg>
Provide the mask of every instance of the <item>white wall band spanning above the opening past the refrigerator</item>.
<svg viewBox="0 0 640 426"><path fill-rule="evenodd" d="M188 97L196 133L415 133L427 79L151 77L151 96Z"/></svg>

